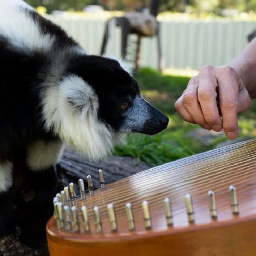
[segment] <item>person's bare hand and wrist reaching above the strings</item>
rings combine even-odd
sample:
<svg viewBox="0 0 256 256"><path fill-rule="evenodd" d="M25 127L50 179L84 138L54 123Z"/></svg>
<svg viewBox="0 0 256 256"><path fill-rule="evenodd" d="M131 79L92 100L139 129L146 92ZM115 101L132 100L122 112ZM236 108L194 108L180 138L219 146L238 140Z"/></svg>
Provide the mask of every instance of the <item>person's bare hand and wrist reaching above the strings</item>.
<svg viewBox="0 0 256 256"><path fill-rule="evenodd" d="M256 39L228 65L204 66L175 108L185 121L207 130L223 129L227 138L235 139L237 115L250 108L251 98L256 98Z"/></svg>

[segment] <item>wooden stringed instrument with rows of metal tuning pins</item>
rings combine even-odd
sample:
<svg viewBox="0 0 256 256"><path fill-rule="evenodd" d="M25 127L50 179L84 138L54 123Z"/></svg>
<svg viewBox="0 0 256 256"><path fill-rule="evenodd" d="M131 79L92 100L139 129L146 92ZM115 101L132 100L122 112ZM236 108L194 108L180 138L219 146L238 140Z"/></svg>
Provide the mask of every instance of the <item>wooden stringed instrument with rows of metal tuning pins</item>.
<svg viewBox="0 0 256 256"><path fill-rule="evenodd" d="M51 256L256 255L256 139L53 199Z"/></svg>

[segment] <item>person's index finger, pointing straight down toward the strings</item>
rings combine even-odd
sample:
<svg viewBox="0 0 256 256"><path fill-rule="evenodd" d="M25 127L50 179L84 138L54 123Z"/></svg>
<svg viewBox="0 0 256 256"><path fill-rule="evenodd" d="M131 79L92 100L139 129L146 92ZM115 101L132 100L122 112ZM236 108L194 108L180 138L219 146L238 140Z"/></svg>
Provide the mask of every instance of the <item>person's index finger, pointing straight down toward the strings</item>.
<svg viewBox="0 0 256 256"><path fill-rule="evenodd" d="M236 71L230 67L222 68L222 74L218 77L223 129L229 139L235 139L238 135L238 78Z"/></svg>

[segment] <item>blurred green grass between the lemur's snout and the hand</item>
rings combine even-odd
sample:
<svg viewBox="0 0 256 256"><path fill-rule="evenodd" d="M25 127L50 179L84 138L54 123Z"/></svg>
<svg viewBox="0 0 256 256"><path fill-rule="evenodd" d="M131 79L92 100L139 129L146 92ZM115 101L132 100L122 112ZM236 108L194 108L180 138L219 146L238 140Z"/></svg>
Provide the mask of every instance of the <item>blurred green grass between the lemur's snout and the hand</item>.
<svg viewBox="0 0 256 256"><path fill-rule="evenodd" d="M145 161L151 166L160 165L213 148L226 140L224 136L215 139L209 146L203 146L186 133L198 125L186 123L175 111L174 103L187 87L189 76L164 75L150 68L142 68L135 74L144 98L165 113L168 127L154 136L131 134L125 147L116 148L115 155L128 155L136 162ZM241 137L256 136L256 102L249 111L240 115L238 124Z"/></svg>

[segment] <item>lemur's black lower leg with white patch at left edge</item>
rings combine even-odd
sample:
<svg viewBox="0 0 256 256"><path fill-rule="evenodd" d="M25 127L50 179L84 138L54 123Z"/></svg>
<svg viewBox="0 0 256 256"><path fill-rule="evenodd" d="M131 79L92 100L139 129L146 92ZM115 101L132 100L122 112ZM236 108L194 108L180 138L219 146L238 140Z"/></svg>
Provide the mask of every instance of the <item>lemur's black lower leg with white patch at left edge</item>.
<svg viewBox="0 0 256 256"><path fill-rule="evenodd" d="M12 186L13 164L8 160L0 162L0 235L12 233L15 224L12 220L12 205L16 191Z"/></svg>

